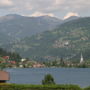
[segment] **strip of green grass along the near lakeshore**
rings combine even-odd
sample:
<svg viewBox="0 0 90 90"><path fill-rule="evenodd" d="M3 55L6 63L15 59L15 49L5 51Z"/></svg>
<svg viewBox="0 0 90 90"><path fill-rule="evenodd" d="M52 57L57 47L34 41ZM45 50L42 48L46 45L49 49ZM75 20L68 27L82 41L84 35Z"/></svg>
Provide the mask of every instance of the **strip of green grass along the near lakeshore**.
<svg viewBox="0 0 90 90"><path fill-rule="evenodd" d="M78 85L0 84L0 90L90 90L90 87L80 88Z"/></svg>

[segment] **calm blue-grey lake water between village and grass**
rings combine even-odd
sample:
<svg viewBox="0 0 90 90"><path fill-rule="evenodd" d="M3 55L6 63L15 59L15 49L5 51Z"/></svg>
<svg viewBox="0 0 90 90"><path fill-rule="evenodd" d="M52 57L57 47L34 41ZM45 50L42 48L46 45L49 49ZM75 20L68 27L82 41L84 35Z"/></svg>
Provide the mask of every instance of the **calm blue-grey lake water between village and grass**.
<svg viewBox="0 0 90 90"><path fill-rule="evenodd" d="M46 74L51 74L57 84L77 84L90 86L89 68L18 68L7 69L10 72L9 83L41 84Z"/></svg>

